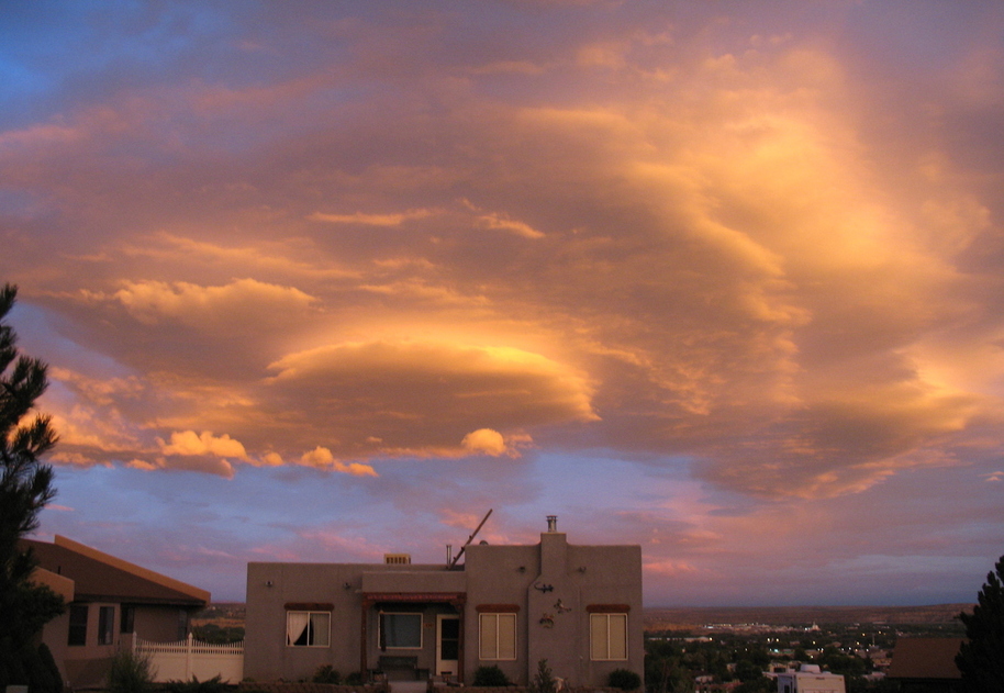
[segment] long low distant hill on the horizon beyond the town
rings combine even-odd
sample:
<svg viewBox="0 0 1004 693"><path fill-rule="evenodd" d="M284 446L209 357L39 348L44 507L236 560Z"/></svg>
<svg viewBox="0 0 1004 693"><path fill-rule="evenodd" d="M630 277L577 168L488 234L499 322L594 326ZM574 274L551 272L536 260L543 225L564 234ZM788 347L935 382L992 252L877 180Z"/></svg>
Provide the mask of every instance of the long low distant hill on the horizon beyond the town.
<svg viewBox="0 0 1004 693"><path fill-rule="evenodd" d="M938 624L953 622L972 604L933 606L749 606L648 607L646 630L679 630L705 624Z"/></svg>

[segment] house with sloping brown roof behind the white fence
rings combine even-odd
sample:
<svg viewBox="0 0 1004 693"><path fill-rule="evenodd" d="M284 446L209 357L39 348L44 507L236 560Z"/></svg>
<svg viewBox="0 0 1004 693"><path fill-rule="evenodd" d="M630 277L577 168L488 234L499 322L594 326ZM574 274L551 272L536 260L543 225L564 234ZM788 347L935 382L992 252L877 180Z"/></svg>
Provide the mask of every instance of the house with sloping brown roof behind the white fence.
<svg viewBox="0 0 1004 693"><path fill-rule="evenodd" d="M100 684L120 642L133 633L147 640L183 639L189 618L210 600L204 590L66 537L22 541L38 560L34 581L66 601L66 613L45 625L42 641L72 688Z"/></svg>

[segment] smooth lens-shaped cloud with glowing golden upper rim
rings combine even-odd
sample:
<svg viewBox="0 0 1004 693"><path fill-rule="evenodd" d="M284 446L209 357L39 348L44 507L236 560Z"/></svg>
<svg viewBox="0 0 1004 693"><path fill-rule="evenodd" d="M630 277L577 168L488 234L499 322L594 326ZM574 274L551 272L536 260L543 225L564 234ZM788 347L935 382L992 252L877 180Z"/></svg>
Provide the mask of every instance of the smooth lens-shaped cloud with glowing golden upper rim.
<svg viewBox="0 0 1004 693"><path fill-rule="evenodd" d="M381 340L317 347L282 357L267 399L311 412L339 449L365 454L456 455L486 427L596 421L591 387L576 369L513 347ZM435 403L435 405L431 405ZM520 438L522 440L522 438ZM475 436L484 450L484 436ZM487 449L494 449L488 445ZM507 448L511 451L511 448Z"/></svg>

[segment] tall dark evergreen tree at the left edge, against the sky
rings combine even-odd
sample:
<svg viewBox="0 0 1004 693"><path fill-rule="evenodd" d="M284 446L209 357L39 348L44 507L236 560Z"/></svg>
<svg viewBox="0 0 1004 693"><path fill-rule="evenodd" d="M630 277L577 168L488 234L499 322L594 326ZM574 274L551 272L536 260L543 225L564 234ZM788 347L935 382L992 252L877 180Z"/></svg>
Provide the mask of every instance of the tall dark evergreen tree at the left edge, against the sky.
<svg viewBox="0 0 1004 693"><path fill-rule="evenodd" d="M0 650L20 648L63 612L62 597L31 583L36 561L18 545L56 493L52 467L40 461L56 433L48 416L33 414L48 384L46 366L18 351L4 323L16 295L11 284L0 290Z"/></svg>

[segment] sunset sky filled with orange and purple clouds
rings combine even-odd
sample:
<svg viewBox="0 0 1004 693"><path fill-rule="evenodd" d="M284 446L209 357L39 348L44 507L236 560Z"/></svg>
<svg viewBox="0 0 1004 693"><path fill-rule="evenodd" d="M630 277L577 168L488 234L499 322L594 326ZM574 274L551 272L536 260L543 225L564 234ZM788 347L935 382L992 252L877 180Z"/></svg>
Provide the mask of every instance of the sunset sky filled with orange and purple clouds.
<svg viewBox="0 0 1004 693"><path fill-rule="evenodd" d="M642 546L648 606L1004 554L1004 4L0 4L0 281L60 534Z"/></svg>

